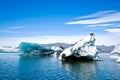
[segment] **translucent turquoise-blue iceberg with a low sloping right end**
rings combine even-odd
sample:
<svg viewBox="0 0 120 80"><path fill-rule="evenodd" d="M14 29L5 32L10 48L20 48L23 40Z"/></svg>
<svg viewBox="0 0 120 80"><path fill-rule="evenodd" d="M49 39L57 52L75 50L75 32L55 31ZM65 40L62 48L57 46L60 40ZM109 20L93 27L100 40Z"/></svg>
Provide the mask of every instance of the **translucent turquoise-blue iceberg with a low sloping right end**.
<svg viewBox="0 0 120 80"><path fill-rule="evenodd" d="M22 42L19 45L21 55L33 56L33 55L50 55L54 51L51 48L43 47L37 43Z"/></svg>

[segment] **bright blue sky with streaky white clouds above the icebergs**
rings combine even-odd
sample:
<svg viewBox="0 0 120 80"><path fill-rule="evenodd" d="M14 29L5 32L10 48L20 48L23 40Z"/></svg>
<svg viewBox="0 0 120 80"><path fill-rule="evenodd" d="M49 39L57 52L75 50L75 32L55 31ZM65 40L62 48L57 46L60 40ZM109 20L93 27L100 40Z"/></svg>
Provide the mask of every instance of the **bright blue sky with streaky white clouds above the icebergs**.
<svg viewBox="0 0 120 80"><path fill-rule="evenodd" d="M96 45L120 44L120 0L0 0L0 45L74 43L93 32Z"/></svg>

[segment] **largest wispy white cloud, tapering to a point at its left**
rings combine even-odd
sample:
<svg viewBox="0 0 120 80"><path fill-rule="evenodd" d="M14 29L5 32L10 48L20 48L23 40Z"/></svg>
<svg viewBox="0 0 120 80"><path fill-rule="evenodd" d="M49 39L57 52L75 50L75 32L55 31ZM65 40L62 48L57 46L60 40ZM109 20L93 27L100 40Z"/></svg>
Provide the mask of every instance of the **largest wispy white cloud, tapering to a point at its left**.
<svg viewBox="0 0 120 80"><path fill-rule="evenodd" d="M81 16L79 20L66 22L65 24L81 24L91 26L111 26L120 21L120 12L116 10L100 11L91 15Z"/></svg>

